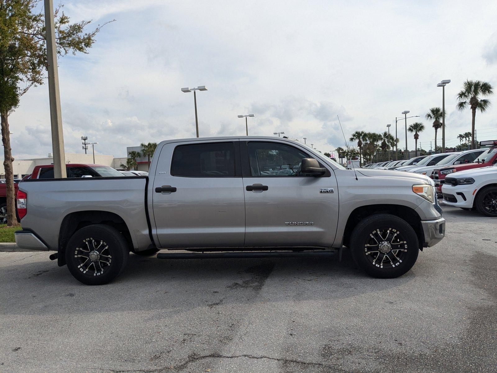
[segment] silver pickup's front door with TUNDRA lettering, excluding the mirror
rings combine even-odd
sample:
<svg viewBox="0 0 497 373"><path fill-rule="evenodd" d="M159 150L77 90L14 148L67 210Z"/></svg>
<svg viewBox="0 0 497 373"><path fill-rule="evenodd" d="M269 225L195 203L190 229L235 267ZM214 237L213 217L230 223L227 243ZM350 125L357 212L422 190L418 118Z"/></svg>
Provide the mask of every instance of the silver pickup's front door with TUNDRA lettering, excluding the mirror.
<svg viewBox="0 0 497 373"><path fill-rule="evenodd" d="M301 174L301 160L315 157L298 144L247 141L241 149L245 246L331 246L338 222L331 167L320 177Z"/></svg>

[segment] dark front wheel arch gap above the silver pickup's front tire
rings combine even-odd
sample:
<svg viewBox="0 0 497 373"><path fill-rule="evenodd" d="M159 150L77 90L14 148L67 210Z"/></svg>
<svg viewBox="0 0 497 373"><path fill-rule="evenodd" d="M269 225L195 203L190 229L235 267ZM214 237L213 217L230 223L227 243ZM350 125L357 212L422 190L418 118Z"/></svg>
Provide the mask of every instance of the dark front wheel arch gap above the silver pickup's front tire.
<svg viewBox="0 0 497 373"><path fill-rule="evenodd" d="M414 211L413 208L397 204L364 205L354 209L348 216L347 223L345 224L345 229L343 231L343 245L346 247L349 246L350 235L359 221L375 214L392 214L405 220L414 228L414 232L416 232L419 243L419 250L423 250L424 236L420 216L416 211Z"/></svg>

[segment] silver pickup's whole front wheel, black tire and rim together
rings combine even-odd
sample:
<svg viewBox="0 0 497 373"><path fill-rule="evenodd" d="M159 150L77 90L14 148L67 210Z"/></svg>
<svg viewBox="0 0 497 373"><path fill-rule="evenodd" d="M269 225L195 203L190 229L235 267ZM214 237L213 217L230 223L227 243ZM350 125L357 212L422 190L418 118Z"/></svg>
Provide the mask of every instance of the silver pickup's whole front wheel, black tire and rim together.
<svg viewBox="0 0 497 373"><path fill-rule="evenodd" d="M368 216L357 224L350 237L350 251L355 263L378 279L404 275L414 266L419 252L413 227L391 214ZM383 242L385 244L380 250ZM376 251L375 246L378 248ZM395 250L396 247L400 249Z"/></svg>

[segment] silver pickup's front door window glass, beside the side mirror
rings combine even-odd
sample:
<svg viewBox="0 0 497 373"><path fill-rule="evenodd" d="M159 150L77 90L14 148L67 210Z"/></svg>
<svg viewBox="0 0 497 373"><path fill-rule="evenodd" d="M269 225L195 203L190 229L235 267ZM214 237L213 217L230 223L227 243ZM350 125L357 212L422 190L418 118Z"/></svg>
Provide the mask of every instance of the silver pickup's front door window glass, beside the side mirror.
<svg viewBox="0 0 497 373"><path fill-rule="evenodd" d="M302 158L309 158L309 154L280 143L249 142L247 150L252 176L301 176L299 169Z"/></svg>

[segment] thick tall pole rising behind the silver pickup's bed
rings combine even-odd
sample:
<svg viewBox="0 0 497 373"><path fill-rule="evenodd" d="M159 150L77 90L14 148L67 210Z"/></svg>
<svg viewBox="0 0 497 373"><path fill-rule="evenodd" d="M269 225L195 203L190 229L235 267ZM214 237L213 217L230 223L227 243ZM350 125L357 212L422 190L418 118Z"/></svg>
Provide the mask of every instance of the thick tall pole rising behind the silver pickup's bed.
<svg viewBox="0 0 497 373"><path fill-rule="evenodd" d="M50 122L52 126L52 152L54 155L54 178L66 178L66 156L62 132L61 97L55 43L54 1L44 0L45 29L47 40L48 96L50 99Z"/></svg>

